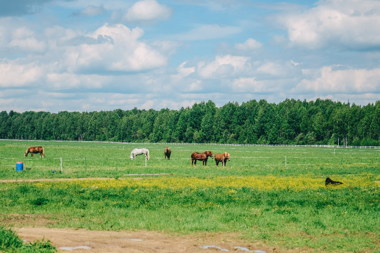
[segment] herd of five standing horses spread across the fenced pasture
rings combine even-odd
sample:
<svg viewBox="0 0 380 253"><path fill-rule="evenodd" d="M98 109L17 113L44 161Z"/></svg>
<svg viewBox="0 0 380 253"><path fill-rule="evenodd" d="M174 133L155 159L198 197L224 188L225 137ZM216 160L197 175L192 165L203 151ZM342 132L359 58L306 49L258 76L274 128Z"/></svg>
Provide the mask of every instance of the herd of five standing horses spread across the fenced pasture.
<svg viewBox="0 0 380 253"><path fill-rule="evenodd" d="M33 157L33 154L38 154L38 153L40 153L40 157L45 157L44 148L41 147L41 146L38 146L38 147L29 147L25 151L24 156L28 156L29 153L32 154L32 157ZM145 158L147 160L149 160L149 150L146 149L146 148L135 148L135 149L133 149L132 152L131 152L130 158L131 159L133 159L133 158L136 159L136 156L142 155L142 154L144 154ZM165 159L167 157L167 159L170 160L171 149L168 148L168 147L165 147L164 155L165 155ZM218 165L219 165L220 162L222 162L222 164L224 166L226 166L227 160L230 160L230 154L227 153L227 152L224 152L223 154L215 154L215 157L212 154L212 151L204 151L203 153L194 152L193 154L191 154L191 167L193 167L193 163L194 163L194 166L196 167L196 161L202 161L203 162L203 166L206 167L207 159L209 157L211 157L211 159L212 158L215 159L215 164L216 164L217 167L218 167Z"/></svg>

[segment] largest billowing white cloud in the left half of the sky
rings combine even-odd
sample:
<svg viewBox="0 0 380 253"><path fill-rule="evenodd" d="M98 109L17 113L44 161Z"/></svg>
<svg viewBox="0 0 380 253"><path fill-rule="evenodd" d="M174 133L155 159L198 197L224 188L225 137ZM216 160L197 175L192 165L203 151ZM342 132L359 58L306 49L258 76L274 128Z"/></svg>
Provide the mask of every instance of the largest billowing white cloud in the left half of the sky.
<svg viewBox="0 0 380 253"><path fill-rule="evenodd" d="M156 46L156 49L164 51L161 53L147 43L139 41L143 34L144 31L139 27L129 29L122 24L105 24L84 37L67 30L65 37L69 39L66 40L66 44L75 38L81 38L82 41L80 45L66 47L68 70L141 71L165 66L169 53L175 51L176 44ZM86 38L92 38L93 43L86 42Z"/></svg>

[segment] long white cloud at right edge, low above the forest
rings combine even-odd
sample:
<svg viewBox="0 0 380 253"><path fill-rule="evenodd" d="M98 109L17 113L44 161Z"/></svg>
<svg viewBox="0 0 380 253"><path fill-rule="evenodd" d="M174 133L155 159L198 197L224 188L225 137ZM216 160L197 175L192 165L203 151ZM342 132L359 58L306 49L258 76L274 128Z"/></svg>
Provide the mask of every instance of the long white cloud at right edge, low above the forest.
<svg viewBox="0 0 380 253"><path fill-rule="evenodd" d="M304 71L308 73L312 71ZM293 93L380 93L380 68L333 70L326 66L318 70L319 77L303 79L291 91Z"/></svg>

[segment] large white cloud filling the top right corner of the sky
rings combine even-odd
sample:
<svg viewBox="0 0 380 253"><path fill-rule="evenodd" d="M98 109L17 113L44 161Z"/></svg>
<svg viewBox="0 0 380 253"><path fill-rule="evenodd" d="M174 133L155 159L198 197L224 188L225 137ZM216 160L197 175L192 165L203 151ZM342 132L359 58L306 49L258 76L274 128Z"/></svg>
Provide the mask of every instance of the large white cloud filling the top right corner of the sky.
<svg viewBox="0 0 380 253"><path fill-rule="evenodd" d="M380 2L326 0L301 14L280 16L292 46L317 49L345 46L364 49L380 46Z"/></svg>

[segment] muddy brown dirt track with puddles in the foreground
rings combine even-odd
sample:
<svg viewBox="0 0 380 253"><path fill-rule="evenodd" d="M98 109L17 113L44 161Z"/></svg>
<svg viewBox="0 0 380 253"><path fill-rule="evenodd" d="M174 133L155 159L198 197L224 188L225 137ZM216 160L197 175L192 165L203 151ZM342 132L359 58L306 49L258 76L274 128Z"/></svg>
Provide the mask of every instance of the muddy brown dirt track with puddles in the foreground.
<svg viewBox="0 0 380 253"><path fill-rule="evenodd" d="M26 241L50 240L61 252L118 253L118 252L290 252L270 248L260 242L237 239L236 234L197 233L169 235L153 231L89 231L68 228L13 228ZM207 246L210 246L207 248ZM241 247L241 248L234 248ZM223 251L222 251L223 250ZM249 250L249 251L248 251ZM296 251L293 251L296 252ZM300 251L297 251L300 252Z"/></svg>

